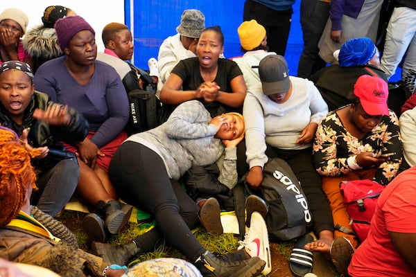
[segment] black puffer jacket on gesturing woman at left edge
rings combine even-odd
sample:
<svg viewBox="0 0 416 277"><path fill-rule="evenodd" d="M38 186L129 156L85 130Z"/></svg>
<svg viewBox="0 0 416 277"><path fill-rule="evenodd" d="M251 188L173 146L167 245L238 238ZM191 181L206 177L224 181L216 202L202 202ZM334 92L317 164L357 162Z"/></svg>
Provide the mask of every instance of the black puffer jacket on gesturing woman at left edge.
<svg viewBox="0 0 416 277"><path fill-rule="evenodd" d="M8 111L0 105L0 124L3 127L8 127L17 132L17 135L21 136L23 129L31 128L28 134L28 143L34 148L48 146L50 150L64 150L60 141L66 143L76 143L83 141L88 134L88 122L84 116L75 109L69 109L68 112L71 115L71 123L68 126L50 126L42 120L36 120L33 118L33 111L35 109L46 110L47 107L53 105L54 102L49 100L49 96L45 93L35 91L31 103L26 108L22 128L17 129L13 121L11 120ZM50 151L51 152L51 151ZM46 157L40 161L42 163L34 164L34 166L43 171L43 164L48 162L51 157Z"/></svg>

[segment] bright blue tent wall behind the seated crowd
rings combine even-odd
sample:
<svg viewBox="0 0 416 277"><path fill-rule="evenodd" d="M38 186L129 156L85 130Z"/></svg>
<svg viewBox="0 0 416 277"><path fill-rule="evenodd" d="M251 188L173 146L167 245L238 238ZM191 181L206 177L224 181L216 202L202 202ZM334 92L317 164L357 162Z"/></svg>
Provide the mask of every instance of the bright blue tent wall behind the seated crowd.
<svg viewBox="0 0 416 277"><path fill-rule="evenodd" d="M125 24L133 30L135 41L134 64L148 69L148 59L156 57L163 40L176 34L182 12L189 8L205 15L205 25L219 25L225 37L225 57L242 55L237 28L243 21L244 0L125 0ZM293 6L291 33L286 49L291 75L297 73L297 62L302 52L302 29L299 20L300 0ZM131 10L134 10L132 14ZM132 17L130 17L130 15ZM133 18L133 26L130 24Z"/></svg>

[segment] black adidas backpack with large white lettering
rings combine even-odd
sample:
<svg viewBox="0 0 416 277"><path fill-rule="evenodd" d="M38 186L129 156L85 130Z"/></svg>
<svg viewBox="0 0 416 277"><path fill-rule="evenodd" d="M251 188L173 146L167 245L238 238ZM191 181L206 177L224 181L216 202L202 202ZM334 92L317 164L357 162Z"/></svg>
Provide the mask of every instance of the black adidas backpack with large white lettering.
<svg viewBox="0 0 416 277"><path fill-rule="evenodd" d="M249 193L257 194L246 185ZM269 159L263 168L261 195L269 206L266 225L270 240L279 242L310 232L312 216L299 181L283 159Z"/></svg>

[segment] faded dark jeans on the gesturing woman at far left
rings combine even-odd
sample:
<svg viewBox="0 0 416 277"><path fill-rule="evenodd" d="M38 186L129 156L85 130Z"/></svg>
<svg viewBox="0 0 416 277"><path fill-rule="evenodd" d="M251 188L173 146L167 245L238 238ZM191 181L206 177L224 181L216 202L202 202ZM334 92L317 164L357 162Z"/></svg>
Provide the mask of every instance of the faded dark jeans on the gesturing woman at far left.
<svg viewBox="0 0 416 277"><path fill-rule="evenodd" d="M49 171L39 175L33 190L31 204L55 217L67 204L78 184L80 168L74 159L64 159Z"/></svg>

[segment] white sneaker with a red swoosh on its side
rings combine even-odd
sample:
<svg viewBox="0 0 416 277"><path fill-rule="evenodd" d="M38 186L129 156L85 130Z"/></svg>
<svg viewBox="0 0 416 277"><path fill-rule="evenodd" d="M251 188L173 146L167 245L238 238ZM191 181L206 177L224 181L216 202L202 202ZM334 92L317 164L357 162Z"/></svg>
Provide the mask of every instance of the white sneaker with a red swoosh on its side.
<svg viewBox="0 0 416 277"><path fill-rule="evenodd" d="M245 233L244 241L239 241L239 243L239 249L244 247L250 257L259 257L266 262L266 266L261 271L261 274L266 276L272 271L267 226L260 213L252 213L250 228Z"/></svg>

